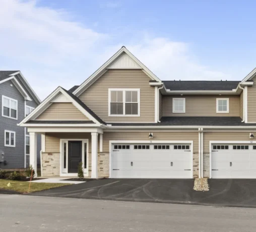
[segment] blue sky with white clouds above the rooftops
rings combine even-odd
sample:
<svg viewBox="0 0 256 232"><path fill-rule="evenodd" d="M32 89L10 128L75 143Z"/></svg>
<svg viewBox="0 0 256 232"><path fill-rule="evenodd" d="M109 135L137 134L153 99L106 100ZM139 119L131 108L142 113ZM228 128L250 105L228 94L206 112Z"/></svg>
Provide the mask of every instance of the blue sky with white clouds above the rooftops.
<svg viewBox="0 0 256 232"><path fill-rule="evenodd" d="M240 80L256 67L255 1L1 0L0 69L43 99L122 45L162 80Z"/></svg>

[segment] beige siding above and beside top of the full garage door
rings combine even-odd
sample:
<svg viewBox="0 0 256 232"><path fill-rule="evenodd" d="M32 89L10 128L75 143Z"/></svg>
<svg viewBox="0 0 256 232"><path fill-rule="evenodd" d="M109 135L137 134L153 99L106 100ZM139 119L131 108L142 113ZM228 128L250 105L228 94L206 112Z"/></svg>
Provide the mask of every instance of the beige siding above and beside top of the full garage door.
<svg viewBox="0 0 256 232"><path fill-rule="evenodd" d="M173 141L194 141L194 153L198 153L198 132L153 132L154 141L173 140ZM149 132L105 132L103 134L103 152L109 152L110 140L147 140L149 141Z"/></svg>

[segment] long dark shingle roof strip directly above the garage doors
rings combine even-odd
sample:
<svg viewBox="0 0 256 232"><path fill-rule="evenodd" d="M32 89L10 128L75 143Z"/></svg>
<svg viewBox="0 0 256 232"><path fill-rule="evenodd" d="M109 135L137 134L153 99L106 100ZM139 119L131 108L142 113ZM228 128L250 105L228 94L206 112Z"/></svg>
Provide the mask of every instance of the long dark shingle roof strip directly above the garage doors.
<svg viewBox="0 0 256 232"><path fill-rule="evenodd" d="M109 123L112 126L256 126L240 117L162 117L161 123Z"/></svg>

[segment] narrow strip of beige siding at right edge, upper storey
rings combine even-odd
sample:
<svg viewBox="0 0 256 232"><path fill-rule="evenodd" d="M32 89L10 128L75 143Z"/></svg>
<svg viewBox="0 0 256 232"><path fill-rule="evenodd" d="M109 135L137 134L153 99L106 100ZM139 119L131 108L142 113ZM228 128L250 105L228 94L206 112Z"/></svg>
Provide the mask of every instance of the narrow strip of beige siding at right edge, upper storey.
<svg viewBox="0 0 256 232"><path fill-rule="evenodd" d="M253 77L252 81L254 81L253 85L247 87L248 123L256 122L256 77Z"/></svg>

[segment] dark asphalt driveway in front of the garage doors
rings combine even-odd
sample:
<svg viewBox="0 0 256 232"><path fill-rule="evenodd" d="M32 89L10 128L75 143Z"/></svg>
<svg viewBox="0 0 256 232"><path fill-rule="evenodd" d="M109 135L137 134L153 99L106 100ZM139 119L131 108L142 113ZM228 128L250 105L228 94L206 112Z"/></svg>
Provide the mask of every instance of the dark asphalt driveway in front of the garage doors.
<svg viewBox="0 0 256 232"><path fill-rule="evenodd" d="M141 202L256 207L256 180L210 179L210 191L193 190L193 179L102 179L32 195Z"/></svg>

